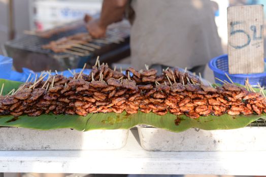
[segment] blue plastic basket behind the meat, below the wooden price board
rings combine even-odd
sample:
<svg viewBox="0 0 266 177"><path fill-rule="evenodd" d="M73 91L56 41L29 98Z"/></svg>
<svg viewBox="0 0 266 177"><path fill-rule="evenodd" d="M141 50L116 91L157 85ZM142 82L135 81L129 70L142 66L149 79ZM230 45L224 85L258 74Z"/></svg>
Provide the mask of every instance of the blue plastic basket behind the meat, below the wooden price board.
<svg viewBox="0 0 266 177"><path fill-rule="evenodd" d="M264 59L264 62L266 60ZM209 67L213 70L214 77L217 77L221 80L227 80L229 79L226 77L226 74L232 79L232 81L240 84L245 84L245 81L247 78L249 78L249 83L252 86L257 85L258 83L261 86L266 86L266 72L263 73L254 73L254 74L229 74L228 73L228 55L221 55L219 57L216 57L212 59L209 62ZM219 80L215 79L216 83L222 84Z"/></svg>

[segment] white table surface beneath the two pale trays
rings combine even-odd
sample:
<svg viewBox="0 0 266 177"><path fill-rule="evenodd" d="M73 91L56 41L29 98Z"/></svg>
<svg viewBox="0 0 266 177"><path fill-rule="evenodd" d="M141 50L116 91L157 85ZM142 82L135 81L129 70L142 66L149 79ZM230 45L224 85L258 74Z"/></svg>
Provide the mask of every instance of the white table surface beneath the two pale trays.
<svg viewBox="0 0 266 177"><path fill-rule="evenodd" d="M120 150L0 151L1 172L265 175L266 151L149 152L131 130ZM266 141L265 141L266 143Z"/></svg>

